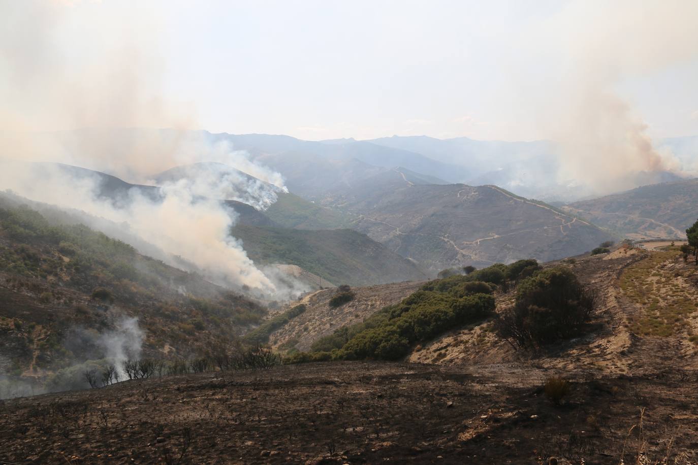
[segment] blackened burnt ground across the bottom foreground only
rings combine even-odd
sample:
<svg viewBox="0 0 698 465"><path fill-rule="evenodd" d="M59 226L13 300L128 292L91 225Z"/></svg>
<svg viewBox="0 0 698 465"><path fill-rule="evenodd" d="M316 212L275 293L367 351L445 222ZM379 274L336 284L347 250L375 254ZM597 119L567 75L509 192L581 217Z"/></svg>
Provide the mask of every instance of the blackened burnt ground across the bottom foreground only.
<svg viewBox="0 0 698 465"><path fill-rule="evenodd" d="M687 460L698 457L697 372L579 376L560 407L542 392L549 374L342 362L127 381L3 402L0 460L617 464L642 407L651 456L673 439ZM637 453L638 431L626 457Z"/></svg>

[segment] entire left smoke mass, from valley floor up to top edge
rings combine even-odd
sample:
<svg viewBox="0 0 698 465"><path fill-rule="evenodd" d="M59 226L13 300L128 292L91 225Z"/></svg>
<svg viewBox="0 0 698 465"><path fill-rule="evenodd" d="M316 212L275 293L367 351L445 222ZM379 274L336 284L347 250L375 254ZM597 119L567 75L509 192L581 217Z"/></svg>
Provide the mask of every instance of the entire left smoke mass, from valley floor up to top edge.
<svg viewBox="0 0 698 465"><path fill-rule="evenodd" d="M0 188L126 224L132 234L191 261L218 283L273 291L274 284L230 236L235 215L219 200L267 208L276 190L285 190L283 178L246 153L186 130L195 121L192 106L165 101L159 93L165 67L158 16L149 8L138 6L134 14L118 2L0 4L0 60L6 65L0 66L0 97L6 102L0 123L7 130L0 132L0 158L64 162L131 182L177 165L217 161L276 188L242 176L182 180L164 183L161 199L133 190L114 206L98 195L96 178L22 163L4 165ZM137 126L174 129L127 129ZM36 132L57 127L89 129Z"/></svg>

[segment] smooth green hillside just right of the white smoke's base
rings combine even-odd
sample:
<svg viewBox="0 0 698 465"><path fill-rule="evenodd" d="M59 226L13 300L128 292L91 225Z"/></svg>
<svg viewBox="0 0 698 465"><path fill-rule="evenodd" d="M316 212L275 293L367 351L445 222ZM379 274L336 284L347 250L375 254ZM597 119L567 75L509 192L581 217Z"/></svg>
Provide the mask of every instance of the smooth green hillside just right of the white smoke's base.
<svg viewBox="0 0 698 465"><path fill-rule="evenodd" d="M297 265L336 285L425 278L408 259L350 229L304 231L239 224L232 234L242 240L256 264Z"/></svg>

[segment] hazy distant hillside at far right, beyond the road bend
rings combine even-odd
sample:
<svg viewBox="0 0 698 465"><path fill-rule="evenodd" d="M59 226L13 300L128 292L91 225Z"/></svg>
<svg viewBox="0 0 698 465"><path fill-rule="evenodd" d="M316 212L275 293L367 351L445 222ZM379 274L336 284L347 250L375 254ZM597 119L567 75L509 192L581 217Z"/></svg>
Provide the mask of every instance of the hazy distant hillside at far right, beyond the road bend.
<svg viewBox="0 0 698 465"><path fill-rule="evenodd" d="M619 236L633 239L685 236L698 218L698 178L577 201L563 207Z"/></svg>

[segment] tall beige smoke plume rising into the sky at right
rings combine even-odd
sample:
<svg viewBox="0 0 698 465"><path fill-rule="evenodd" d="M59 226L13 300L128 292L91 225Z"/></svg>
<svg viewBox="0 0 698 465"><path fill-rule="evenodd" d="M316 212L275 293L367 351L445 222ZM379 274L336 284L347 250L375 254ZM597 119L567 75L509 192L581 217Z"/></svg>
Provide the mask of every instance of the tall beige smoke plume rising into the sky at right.
<svg viewBox="0 0 698 465"><path fill-rule="evenodd" d="M604 194L635 187L639 174L681 171L671 153L655 150L618 84L695 58L696 17L698 3L690 1L573 1L533 33L540 34L534 49L556 40L566 63L558 85L549 77L555 90L543 105L561 154L560 181Z"/></svg>

